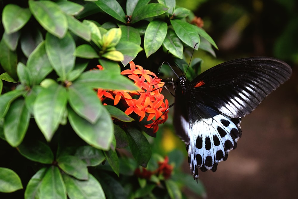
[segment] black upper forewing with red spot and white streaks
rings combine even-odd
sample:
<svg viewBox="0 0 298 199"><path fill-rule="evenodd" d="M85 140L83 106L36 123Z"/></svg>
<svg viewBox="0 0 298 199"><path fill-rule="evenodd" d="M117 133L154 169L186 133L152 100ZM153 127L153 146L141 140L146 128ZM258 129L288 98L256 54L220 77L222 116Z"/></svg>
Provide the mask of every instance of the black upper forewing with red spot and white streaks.
<svg viewBox="0 0 298 199"><path fill-rule="evenodd" d="M232 118L251 113L292 74L285 62L270 57L227 61L203 72L190 83L196 100Z"/></svg>

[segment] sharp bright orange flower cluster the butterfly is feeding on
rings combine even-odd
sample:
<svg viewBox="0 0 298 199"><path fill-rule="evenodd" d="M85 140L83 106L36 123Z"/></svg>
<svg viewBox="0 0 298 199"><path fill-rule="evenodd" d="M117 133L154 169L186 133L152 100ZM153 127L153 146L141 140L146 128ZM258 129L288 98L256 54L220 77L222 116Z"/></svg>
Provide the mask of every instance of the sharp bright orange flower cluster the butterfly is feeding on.
<svg viewBox="0 0 298 199"><path fill-rule="evenodd" d="M122 71L121 74L128 75L128 78L134 80L135 85L141 90L136 92L98 89L97 96L101 101L105 98L114 100L114 105L121 101L127 107L125 114L130 115L134 112L139 115L139 121L144 118L147 118L147 121L152 121L151 124L147 124L145 127L153 128L155 133L158 130L158 124L162 124L167 120L169 102L167 99L164 100L164 95L161 94L164 82L161 82L160 78L150 70L135 65L133 61L129 64L130 69ZM102 66L97 65L97 67L103 70Z"/></svg>

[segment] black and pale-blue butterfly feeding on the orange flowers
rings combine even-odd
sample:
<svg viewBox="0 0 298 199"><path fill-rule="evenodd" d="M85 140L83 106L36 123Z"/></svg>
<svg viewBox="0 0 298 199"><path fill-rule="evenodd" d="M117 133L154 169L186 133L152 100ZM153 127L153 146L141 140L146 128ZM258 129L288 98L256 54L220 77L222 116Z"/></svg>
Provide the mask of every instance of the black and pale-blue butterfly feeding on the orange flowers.
<svg viewBox="0 0 298 199"><path fill-rule="evenodd" d="M241 137L241 118L251 113L292 73L270 57L241 58L206 70L193 81L181 75L176 84L173 124L185 142L194 179L216 171Z"/></svg>

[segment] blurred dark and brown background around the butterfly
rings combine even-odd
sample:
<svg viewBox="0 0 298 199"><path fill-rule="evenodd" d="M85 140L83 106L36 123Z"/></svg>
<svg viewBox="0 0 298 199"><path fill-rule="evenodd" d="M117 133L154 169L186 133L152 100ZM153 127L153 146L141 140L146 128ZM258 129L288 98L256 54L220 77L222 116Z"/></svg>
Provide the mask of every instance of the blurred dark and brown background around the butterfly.
<svg viewBox="0 0 298 199"><path fill-rule="evenodd" d="M208 198L295 198L298 195L298 2L297 0L176 0L201 17L219 50L199 51L202 70L224 61L271 56L293 69L289 81L242 119L242 138L215 173L199 172ZM164 147L181 147L164 131ZM174 141L169 142L174 137ZM187 152L184 148L184 155ZM189 172L187 161L185 172ZM186 190L187 192L187 190ZM189 198L195 198L187 192Z"/></svg>

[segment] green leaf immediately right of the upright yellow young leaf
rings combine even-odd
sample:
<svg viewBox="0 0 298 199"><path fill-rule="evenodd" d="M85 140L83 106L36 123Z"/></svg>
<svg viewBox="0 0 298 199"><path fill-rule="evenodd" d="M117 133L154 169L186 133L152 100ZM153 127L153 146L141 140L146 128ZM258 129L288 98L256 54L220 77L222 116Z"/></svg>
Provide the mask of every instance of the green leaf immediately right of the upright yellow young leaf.
<svg viewBox="0 0 298 199"><path fill-rule="evenodd" d="M137 45L141 45L141 36L138 30L131 26L120 26L121 28L121 41L130 41Z"/></svg>

